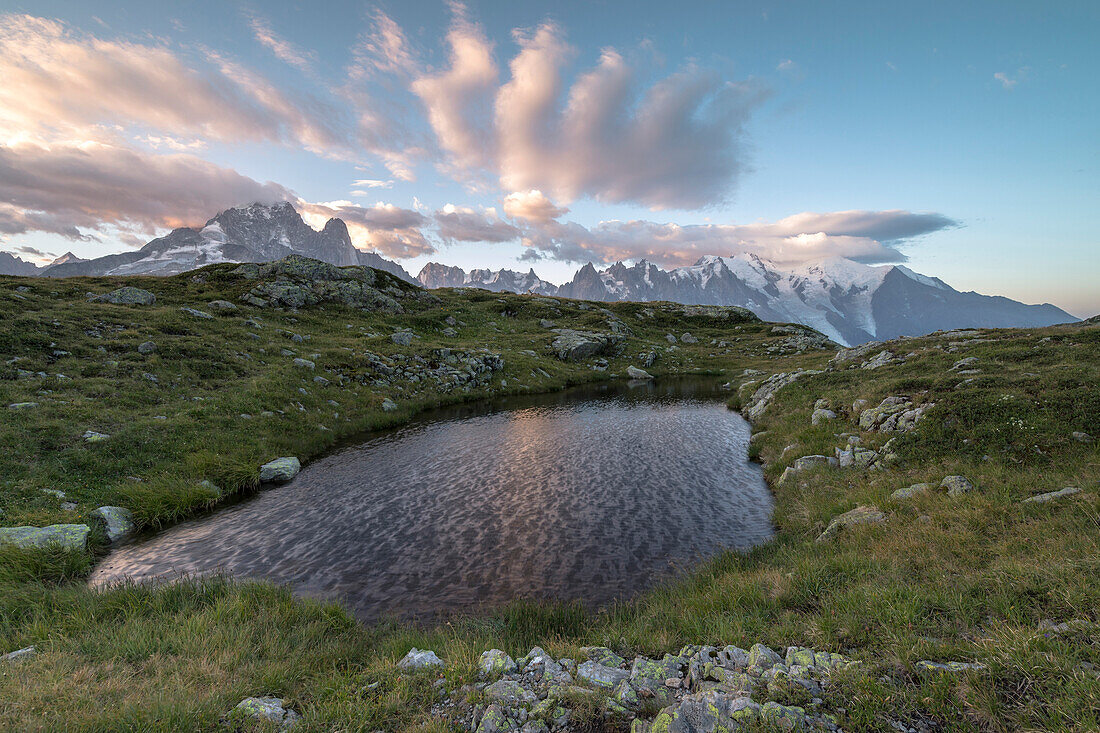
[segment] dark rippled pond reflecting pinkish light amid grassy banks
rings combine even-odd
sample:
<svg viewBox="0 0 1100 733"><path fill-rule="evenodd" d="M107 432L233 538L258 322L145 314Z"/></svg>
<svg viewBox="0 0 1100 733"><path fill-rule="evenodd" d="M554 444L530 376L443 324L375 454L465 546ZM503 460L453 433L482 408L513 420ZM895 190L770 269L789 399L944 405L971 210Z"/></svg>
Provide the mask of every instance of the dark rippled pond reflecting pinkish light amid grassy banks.
<svg viewBox="0 0 1100 733"><path fill-rule="evenodd" d="M722 400L694 380L437 411L122 547L92 582L224 570L339 599L364 621L628 598L771 534L749 426Z"/></svg>

